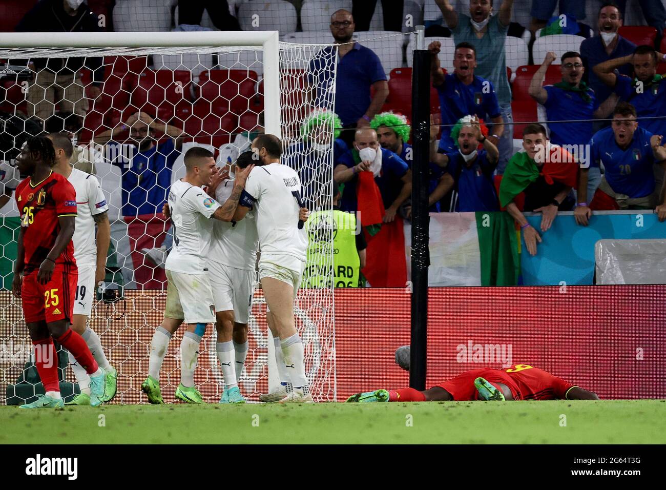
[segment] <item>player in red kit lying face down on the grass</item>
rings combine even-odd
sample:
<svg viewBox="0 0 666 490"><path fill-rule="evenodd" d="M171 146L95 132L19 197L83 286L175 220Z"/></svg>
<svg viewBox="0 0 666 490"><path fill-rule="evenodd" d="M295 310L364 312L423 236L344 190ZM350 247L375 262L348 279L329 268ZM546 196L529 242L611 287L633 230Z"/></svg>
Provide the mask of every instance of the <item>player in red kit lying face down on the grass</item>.
<svg viewBox="0 0 666 490"><path fill-rule="evenodd" d="M564 381L537 367L516 364L507 369L470 369L438 386L378 389L356 393L348 402L470 401L470 400L598 400L591 391Z"/></svg>

